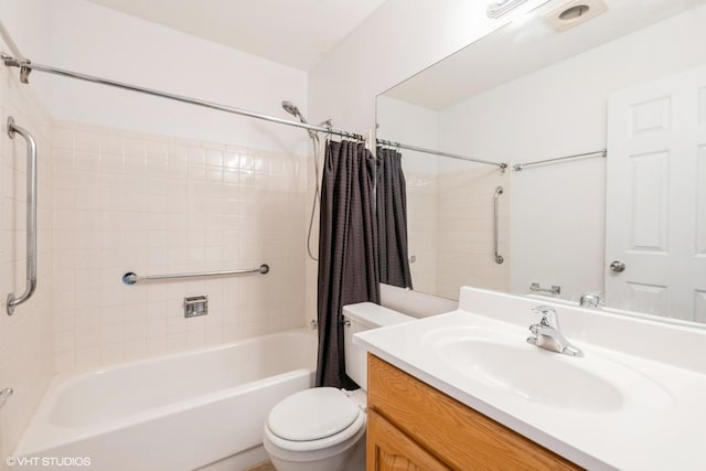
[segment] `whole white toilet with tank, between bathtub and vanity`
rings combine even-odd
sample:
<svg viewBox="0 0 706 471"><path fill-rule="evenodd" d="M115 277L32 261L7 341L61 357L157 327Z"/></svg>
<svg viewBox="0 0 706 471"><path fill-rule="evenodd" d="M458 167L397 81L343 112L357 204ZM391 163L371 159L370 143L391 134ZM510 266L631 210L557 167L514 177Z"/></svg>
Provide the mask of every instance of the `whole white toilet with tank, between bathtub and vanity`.
<svg viewBox="0 0 706 471"><path fill-rule="evenodd" d="M367 357L353 334L413 321L372 302L343 307L345 371L361 388L317 387L278 403L265 422L263 445L278 471L363 471Z"/></svg>

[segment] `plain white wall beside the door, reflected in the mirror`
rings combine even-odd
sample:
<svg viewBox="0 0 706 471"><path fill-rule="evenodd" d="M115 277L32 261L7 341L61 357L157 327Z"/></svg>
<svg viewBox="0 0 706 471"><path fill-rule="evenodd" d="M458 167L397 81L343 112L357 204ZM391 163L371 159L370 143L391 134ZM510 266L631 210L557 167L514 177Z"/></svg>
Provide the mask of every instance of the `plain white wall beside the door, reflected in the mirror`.
<svg viewBox="0 0 706 471"><path fill-rule="evenodd" d="M439 115L439 141L511 162L603 149L608 94L702 63L704 21L706 8L683 13L451 106ZM533 281L560 285L574 300L601 291L605 160L526 169L512 180L513 292Z"/></svg>

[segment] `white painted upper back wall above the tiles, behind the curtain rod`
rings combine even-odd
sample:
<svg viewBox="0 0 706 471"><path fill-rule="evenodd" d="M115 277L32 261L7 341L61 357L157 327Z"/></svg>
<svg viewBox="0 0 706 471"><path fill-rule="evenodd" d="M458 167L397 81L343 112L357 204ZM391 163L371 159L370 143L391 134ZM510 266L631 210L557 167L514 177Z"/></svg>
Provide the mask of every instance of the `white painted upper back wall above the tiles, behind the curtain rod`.
<svg viewBox="0 0 706 471"><path fill-rule="evenodd" d="M84 0L52 1L51 33L51 63L56 67L281 118L293 119L281 109L284 99L307 110L302 71ZM299 128L74 79L52 82L51 111L57 119L307 151L307 133Z"/></svg>

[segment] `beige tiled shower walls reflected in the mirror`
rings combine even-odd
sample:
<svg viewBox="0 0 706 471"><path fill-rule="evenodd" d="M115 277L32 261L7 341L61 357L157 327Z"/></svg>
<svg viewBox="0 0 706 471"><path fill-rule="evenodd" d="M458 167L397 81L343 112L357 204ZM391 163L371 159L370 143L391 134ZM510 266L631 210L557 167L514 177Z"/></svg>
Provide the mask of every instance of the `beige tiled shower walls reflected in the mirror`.
<svg viewBox="0 0 706 471"><path fill-rule="evenodd" d="M458 299L461 286L510 289L510 176L495 168L441 174L409 172L407 218L414 289ZM493 255L493 194L502 185L499 251Z"/></svg>

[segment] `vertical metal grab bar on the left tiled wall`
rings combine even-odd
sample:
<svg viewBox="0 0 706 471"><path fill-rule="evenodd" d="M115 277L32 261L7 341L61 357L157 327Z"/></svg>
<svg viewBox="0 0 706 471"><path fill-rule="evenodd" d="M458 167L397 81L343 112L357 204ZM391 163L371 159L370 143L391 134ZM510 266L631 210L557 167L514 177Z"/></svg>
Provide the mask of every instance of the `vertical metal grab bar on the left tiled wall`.
<svg viewBox="0 0 706 471"><path fill-rule="evenodd" d="M15 126L14 118L8 118L8 136L14 139L19 133L26 141L26 286L19 297L8 295L8 315L14 308L32 297L36 289L36 142L26 129Z"/></svg>

